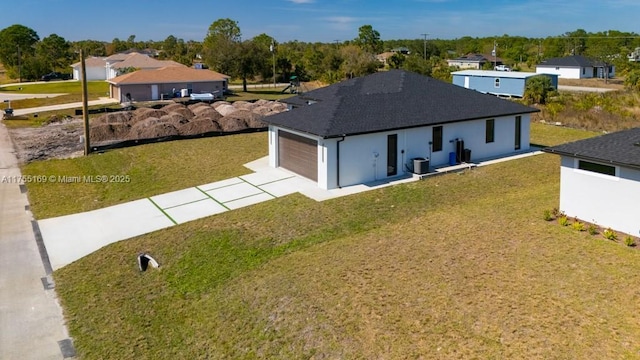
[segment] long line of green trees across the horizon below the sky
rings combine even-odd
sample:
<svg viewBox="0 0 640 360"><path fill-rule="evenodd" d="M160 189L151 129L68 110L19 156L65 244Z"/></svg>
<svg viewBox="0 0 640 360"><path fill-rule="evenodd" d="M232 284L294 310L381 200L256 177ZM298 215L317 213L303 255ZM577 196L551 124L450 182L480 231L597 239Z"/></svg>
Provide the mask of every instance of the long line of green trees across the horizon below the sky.
<svg viewBox="0 0 640 360"><path fill-rule="evenodd" d="M243 82L257 80L288 82L291 76L301 81L334 83L345 78L378 71L383 64L376 55L396 51L384 65L450 80L446 59L469 53L497 56L514 69L532 68L540 61L566 55L584 55L616 65L617 73L637 74L640 64L627 55L640 47L640 36L632 32L610 30L591 33L583 29L546 38L528 38L504 34L496 37L465 36L457 39L381 40L371 25L363 25L352 40L321 43L298 40L279 43L268 34L243 39L238 22L214 21L203 41L185 41L173 35L162 41L137 41L135 35L111 42L95 40L67 41L51 34L40 39L36 31L23 25L0 30L0 62L14 79L35 80L50 71L69 72L79 61L80 49L90 56L109 56L126 50L154 49L161 60L174 60L191 66L203 62L209 68Z"/></svg>

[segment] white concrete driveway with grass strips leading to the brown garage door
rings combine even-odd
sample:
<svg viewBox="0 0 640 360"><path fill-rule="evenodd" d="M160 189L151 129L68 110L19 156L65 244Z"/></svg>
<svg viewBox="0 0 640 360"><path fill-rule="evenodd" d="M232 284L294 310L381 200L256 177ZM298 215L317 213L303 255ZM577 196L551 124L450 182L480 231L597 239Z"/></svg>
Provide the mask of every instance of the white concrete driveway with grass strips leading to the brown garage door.
<svg viewBox="0 0 640 360"><path fill-rule="evenodd" d="M269 167L266 157L245 166L254 173L85 213L39 220L53 270L120 240L295 192L322 201L416 180L405 177L393 182L322 190L311 180Z"/></svg>

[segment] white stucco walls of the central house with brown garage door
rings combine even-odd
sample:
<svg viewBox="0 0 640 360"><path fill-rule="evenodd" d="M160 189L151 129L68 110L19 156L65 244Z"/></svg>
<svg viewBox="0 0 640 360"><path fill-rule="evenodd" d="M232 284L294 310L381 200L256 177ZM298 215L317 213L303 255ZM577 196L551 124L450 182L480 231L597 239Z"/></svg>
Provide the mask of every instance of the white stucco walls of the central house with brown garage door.
<svg viewBox="0 0 640 360"><path fill-rule="evenodd" d="M295 111L295 110L294 110ZM529 149L530 115L522 116L520 151ZM318 186L333 189L385 180L387 176L387 136L398 135L398 173L406 175L412 167L412 159L429 158L430 166L445 165L449 153L455 152L454 139L464 140L464 147L471 150L471 161L513 153L515 145L515 116L495 118L495 141L485 143L487 119L443 124L442 151L430 151L433 127L426 126L374 134L322 139L300 132L292 133L318 140ZM269 165L278 167L277 127L269 127ZM286 130L289 131L289 130ZM340 160L338 161L338 143ZM377 156L375 155L377 154ZM338 168L340 183L338 184ZM408 165L408 168L407 166Z"/></svg>

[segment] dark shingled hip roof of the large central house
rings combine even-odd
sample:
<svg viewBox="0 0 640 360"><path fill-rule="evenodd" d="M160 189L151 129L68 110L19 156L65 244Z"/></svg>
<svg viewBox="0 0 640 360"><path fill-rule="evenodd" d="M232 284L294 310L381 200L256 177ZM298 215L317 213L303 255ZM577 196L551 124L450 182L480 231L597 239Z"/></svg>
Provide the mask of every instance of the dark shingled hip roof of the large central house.
<svg viewBox="0 0 640 360"><path fill-rule="evenodd" d="M402 70L346 80L287 102L303 105L264 121L324 138L539 111Z"/></svg>

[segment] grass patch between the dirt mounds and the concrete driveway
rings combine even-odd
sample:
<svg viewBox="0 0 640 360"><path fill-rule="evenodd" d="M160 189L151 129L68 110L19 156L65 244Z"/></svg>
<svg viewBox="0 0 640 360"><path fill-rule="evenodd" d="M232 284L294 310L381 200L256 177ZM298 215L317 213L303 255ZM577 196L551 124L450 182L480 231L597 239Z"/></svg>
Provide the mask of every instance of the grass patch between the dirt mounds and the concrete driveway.
<svg viewBox="0 0 640 360"><path fill-rule="evenodd" d="M88 157L32 162L23 175L128 175L129 183L30 183L38 219L88 211L216 180L248 174L243 164L267 155L264 132L171 141L94 153Z"/></svg>

